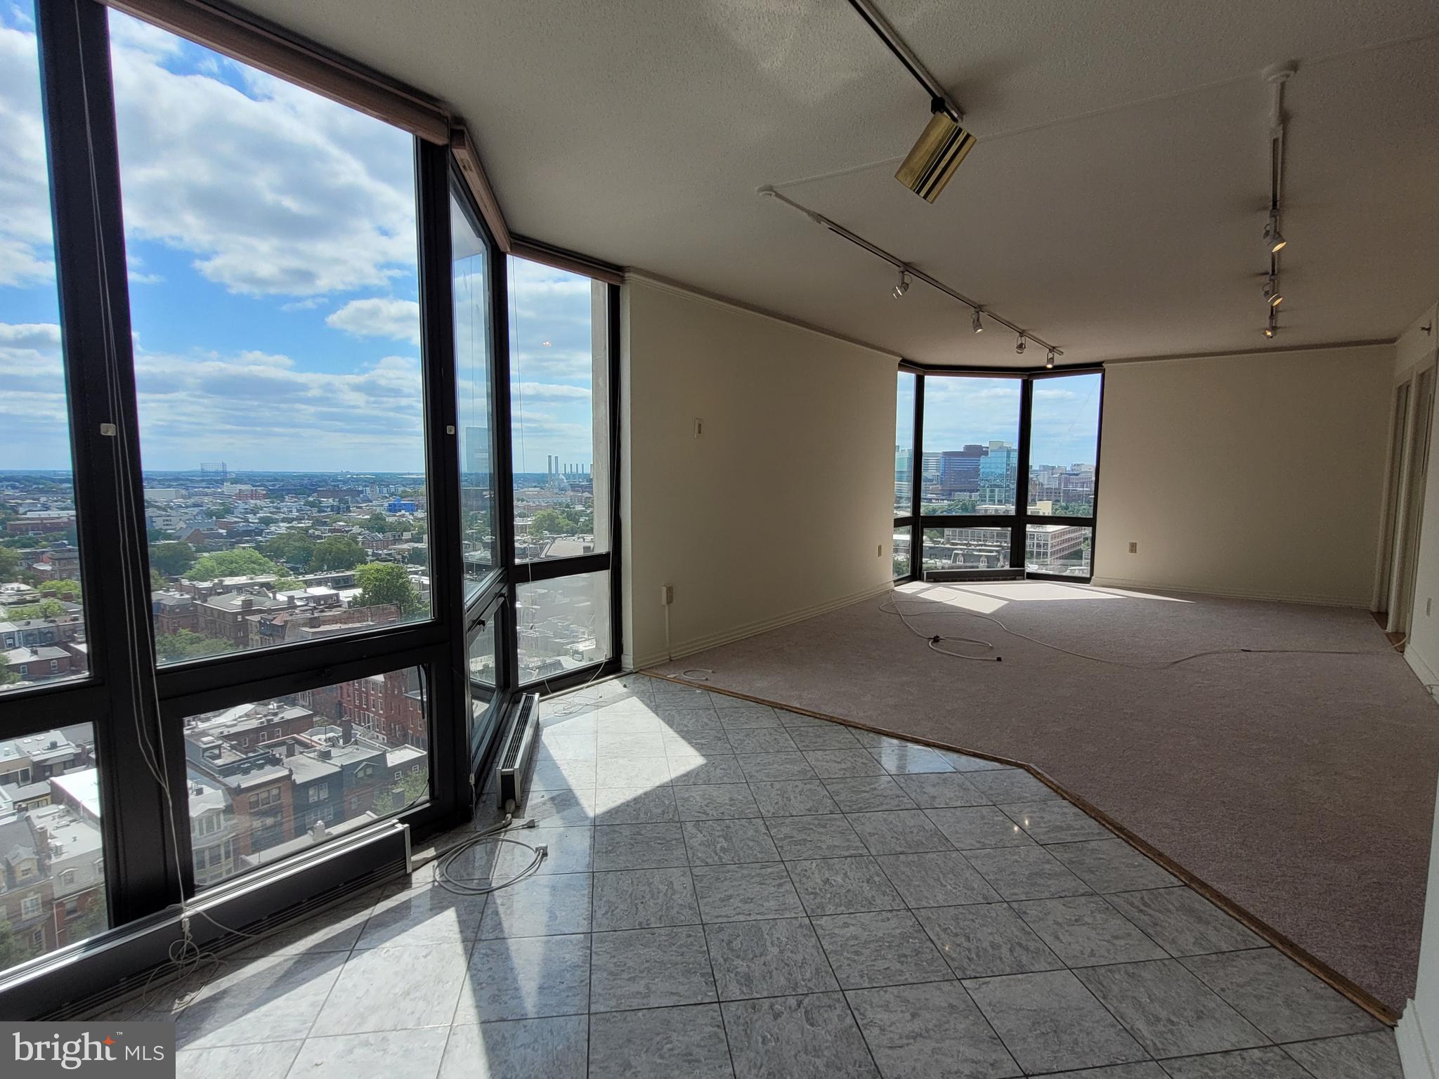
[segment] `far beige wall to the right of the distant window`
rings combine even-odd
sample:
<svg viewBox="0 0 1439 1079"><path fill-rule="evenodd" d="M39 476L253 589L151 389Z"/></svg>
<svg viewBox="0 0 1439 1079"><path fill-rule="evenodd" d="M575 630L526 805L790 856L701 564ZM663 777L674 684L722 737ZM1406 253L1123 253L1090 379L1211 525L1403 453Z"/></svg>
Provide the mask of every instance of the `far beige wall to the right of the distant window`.
<svg viewBox="0 0 1439 1079"><path fill-rule="evenodd" d="M1367 607L1393 364L1393 345L1109 364L1095 581Z"/></svg>

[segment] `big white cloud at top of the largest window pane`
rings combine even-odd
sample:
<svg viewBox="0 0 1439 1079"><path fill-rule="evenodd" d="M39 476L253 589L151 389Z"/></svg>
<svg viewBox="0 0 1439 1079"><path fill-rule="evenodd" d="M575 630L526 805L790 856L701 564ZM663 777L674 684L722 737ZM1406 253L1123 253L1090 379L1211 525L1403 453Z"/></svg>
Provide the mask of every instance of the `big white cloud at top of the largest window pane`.
<svg viewBox="0 0 1439 1079"><path fill-rule="evenodd" d="M414 272L413 141L266 75L245 91L163 63L174 42L112 12L130 236L233 292L315 296ZM224 73L224 72L222 72Z"/></svg>

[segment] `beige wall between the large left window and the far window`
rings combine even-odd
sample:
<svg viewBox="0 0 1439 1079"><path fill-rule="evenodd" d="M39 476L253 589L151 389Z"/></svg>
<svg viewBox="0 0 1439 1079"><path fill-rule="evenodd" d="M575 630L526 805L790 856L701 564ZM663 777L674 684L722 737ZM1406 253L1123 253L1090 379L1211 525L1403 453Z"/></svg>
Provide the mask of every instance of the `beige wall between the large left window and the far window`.
<svg viewBox="0 0 1439 1079"><path fill-rule="evenodd" d="M889 586L896 357L643 278L622 341L626 665L663 584L676 656Z"/></svg>

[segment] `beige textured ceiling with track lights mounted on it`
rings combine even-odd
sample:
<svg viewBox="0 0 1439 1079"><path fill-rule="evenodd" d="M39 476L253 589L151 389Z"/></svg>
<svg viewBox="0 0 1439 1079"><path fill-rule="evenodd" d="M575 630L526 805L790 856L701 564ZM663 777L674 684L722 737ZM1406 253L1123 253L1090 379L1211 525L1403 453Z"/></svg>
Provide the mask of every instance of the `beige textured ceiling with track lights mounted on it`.
<svg viewBox="0 0 1439 1079"><path fill-rule="evenodd" d="M879 0L979 138L932 206L892 178L928 101L843 0L248 3L452 102L515 230L944 364L1019 357L755 188L1065 363L1263 348L1261 70L1292 59L1272 347L1439 296L1432 0Z"/></svg>

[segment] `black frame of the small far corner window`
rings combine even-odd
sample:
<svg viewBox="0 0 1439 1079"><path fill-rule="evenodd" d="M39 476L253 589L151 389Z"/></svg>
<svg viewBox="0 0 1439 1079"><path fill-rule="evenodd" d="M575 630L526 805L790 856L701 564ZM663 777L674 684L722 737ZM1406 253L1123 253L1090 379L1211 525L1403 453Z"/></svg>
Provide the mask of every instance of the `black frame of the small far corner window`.
<svg viewBox="0 0 1439 1079"><path fill-rule="evenodd" d="M1007 528L1009 570L1012 577L1032 581L1068 581L1088 584L1094 580L1094 552L1099 535L1099 463L1104 446L1104 365L1085 364L1073 367L937 367L902 361L899 373L915 375L914 388L914 453L911 455L911 499L909 512L894 518L895 532L909 532L909 573L896 577L895 584L924 580L924 531L927 528ZM1030 429L1035 407L1035 383L1048 378L1065 378L1076 374L1099 375L1099 417L1094 439L1094 498L1086 516L1056 516L1030 514ZM1020 384L1019 394L1019 442L1016 446L1014 512L1013 514L925 514L924 506L924 387L927 378L1013 378ZM1078 574L1035 573L1026 565L1029 551L1029 525L1075 525L1089 529L1089 573Z"/></svg>

